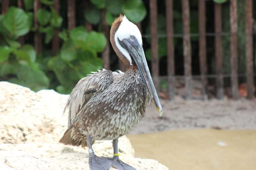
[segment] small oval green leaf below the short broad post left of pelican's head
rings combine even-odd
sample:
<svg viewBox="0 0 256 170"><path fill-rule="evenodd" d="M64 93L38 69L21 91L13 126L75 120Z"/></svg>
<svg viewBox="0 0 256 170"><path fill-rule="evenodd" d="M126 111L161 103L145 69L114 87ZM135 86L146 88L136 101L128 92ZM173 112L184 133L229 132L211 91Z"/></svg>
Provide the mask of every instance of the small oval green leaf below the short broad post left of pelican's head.
<svg viewBox="0 0 256 170"><path fill-rule="evenodd" d="M77 58L77 49L71 39L64 42L60 49L60 57L64 61L73 61Z"/></svg>

